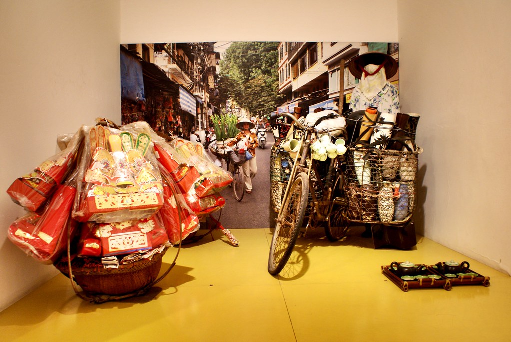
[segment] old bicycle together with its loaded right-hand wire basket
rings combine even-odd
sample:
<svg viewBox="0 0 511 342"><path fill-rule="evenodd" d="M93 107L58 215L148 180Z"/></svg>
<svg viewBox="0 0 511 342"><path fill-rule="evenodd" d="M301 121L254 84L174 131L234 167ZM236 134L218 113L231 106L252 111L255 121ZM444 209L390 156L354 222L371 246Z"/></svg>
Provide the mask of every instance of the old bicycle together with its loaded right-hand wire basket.
<svg viewBox="0 0 511 342"><path fill-rule="evenodd" d="M369 225L372 230L373 225L403 228L410 223L416 203L418 155L422 149L414 143L414 132L395 126L388 128L393 132L392 138L359 143L360 137L367 131L382 130L379 125L389 124L383 120L365 123L361 116L363 112L345 116L346 127L352 131L347 153L330 160L324 183L321 177L324 173L318 172L318 162L310 151L311 139L314 134L337 129L346 139L349 138L346 129L318 131L319 121L312 126L304 126L294 116L285 113L301 132L298 146L303 146L303 150L301 156L297 155L292 161L289 181L278 211L268 258L270 274L280 273L291 255L306 215L308 197L312 205L306 229L311 225L324 224L327 238L331 241L343 238L352 224ZM317 178L319 185L316 187L320 191L314 188L313 176ZM321 195L320 200L316 192ZM414 240L414 235L411 240ZM410 245L411 240L406 243Z"/></svg>

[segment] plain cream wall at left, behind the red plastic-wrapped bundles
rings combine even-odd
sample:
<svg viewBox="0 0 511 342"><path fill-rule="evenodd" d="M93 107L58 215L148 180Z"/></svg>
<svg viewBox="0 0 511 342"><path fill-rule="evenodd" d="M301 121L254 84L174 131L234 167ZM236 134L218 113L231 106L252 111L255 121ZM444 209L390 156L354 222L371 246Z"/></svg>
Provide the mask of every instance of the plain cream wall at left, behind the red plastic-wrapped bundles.
<svg viewBox="0 0 511 342"><path fill-rule="evenodd" d="M120 123L119 18L119 1L0 1L0 310L57 274L7 239L23 211L5 191L55 154L57 134Z"/></svg>

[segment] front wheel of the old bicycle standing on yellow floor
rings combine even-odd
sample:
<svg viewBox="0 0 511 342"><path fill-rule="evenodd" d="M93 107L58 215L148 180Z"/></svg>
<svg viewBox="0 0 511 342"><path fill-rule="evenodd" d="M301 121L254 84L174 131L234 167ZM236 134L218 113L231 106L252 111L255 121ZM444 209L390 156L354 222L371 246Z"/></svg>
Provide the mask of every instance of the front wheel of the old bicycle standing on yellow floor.
<svg viewBox="0 0 511 342"><path fill-rule="evenodd" d="M296 243L298 232L304 221L309 180L306 173L299 173L289 189L273 231L268 256L268 272L276 275L282 271Z"/></svg>

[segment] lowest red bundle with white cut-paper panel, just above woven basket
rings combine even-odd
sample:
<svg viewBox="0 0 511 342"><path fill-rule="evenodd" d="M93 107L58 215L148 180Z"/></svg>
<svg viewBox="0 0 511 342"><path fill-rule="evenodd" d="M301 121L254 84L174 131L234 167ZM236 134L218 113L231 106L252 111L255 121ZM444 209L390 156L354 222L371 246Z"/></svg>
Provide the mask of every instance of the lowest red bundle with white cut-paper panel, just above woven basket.
<svg viewBox="0 0 511 342"><path fill-rule="evenodd" d="M168 240L159 213L140 220L96 223L80 226L78 256L111 256L152 250Z"/></svg>

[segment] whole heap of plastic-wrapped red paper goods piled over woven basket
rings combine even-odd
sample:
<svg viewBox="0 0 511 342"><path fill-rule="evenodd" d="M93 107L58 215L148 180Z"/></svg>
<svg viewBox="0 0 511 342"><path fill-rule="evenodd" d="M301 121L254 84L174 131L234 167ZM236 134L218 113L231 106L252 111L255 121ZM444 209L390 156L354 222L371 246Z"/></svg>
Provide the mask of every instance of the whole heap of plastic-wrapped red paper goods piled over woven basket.
<svg viewBox="0 0 511 342"><path fill-rule="evenodd" d="M162 253L198 230L200 217L225 205L216 191L232 178L222 169L213 178L219 168L202 145L183 148L193 148L185 158L147 123L105 123L60 135L62 151L8 190L31 211L11 224L8 237L40 262L57 265L68 242L77 259L104 268L133 253Z"/></svg>

